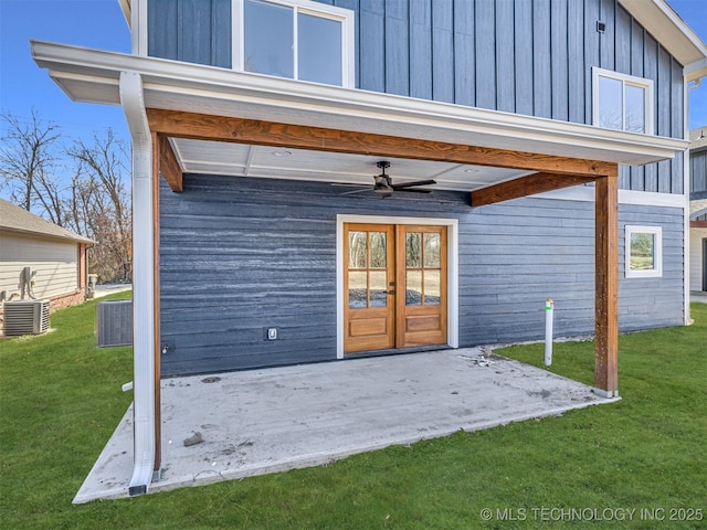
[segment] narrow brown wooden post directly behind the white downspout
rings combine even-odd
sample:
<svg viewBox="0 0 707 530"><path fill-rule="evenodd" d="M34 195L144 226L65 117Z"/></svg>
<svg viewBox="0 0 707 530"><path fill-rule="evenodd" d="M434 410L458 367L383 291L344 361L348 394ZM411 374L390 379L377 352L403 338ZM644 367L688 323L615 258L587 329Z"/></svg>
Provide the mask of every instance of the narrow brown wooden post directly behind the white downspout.
<svg viewBox="0 0 707 530"><path fill-rule="evenodd" d="M162 465L162 414L161 414L161 324L159 306L159 168L160 156L163 151L160 138L152 132L152 326L155 332L155 466L154 470L159 470ZM169 147L169 141L163 138ZM172 153L173 156L173 153ZM181 171L180 171L181 176ZM169 182L169 181L168 181ZM171 183L170 183L171 187ZM172 191L177 191L172 188ZM181 190L179 190L181 191Z"/></svg>

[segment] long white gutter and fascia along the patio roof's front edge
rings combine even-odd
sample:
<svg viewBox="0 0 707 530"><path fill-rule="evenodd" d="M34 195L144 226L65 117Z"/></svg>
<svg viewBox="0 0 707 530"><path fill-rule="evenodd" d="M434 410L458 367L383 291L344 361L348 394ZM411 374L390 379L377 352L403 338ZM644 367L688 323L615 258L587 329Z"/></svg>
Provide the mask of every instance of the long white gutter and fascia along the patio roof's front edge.
<svg viewBox="0 0 707 530"><path fill-rule="evenodd" d="M684 139L602 129L589 125L523 116L498 110L415 99L352 88L341 88L251 73L188 64L155 57L88 50L64 44L32 41L32 56L75 100L85 97L81 84L62 84L75 74L92 77L91 96L96 99L96 83L106 83L110 100L114 81L122 71L140 73L148 105L168 108L169 100L189 102L194 112L222 115L258 112L287 112L296 125L313 125L317 119L331 128L360 132L394 134L433 141L456 141L488 148L552 156L570 156L626 165L643 165L666 158L687 148ZM87 81L87 80L86 80ZM200 107L201 105L201 107ZM213 110L211 112L213 114ZM243 116L246 117L246 116Z"/></svg>

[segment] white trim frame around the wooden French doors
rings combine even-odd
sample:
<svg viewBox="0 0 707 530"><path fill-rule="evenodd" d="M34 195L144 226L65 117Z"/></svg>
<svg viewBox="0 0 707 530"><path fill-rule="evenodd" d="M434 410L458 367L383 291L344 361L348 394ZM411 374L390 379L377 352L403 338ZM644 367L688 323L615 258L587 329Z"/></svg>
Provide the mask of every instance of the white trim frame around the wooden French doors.
<svg viewBox="0 0 707 530"><path fill-rule="evenodd" d="M336 219L337 359L344 359L344 224L412 224L447 229L447 346L458 348L458 220L389 215L338 214Z"/></svg>

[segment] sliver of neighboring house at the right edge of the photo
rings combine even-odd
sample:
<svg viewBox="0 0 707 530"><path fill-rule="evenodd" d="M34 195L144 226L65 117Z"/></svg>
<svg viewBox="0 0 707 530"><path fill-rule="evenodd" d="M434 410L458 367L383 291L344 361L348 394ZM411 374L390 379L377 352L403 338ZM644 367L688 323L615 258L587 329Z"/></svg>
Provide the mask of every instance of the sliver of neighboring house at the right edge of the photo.
<svg viewBox="0 0 707 530"><path fill-rule="evenodd" d="M707 292L707 135L705 129L693 130L689 135L689 288L696 292Z"/></svg>

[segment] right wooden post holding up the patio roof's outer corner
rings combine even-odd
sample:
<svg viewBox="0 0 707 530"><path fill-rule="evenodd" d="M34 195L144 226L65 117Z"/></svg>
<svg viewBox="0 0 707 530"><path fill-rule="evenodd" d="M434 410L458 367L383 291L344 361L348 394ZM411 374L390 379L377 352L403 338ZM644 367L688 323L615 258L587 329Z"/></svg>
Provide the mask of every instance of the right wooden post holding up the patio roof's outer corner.
<svg viewBox="0 0 707 530"><path fill-rule="evenodd" d="M619 395L619 170L597 179L594 386Z"/></svg>

